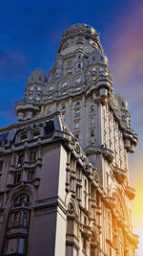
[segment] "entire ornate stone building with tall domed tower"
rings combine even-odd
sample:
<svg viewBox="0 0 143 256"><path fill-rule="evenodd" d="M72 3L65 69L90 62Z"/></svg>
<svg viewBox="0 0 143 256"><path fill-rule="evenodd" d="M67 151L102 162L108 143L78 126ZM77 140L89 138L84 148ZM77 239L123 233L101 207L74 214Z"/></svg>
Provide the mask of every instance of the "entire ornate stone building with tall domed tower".
<svg viewBox="0 0 143 256"><path fill-rule="evenodd" d="M133 256L127 153L137 136L99 36L76 24L0 129L1 255Z"/></svg>

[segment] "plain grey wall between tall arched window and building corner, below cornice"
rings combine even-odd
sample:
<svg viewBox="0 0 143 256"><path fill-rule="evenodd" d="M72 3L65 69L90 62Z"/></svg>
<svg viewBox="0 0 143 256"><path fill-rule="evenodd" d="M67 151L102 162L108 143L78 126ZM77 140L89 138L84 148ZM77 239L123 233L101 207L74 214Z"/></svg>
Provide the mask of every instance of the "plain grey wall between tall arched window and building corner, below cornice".
<svg viewBox="0 0 143 256"><path fill-rule="evenodd" d="M56 212L35 213L31 221L28 256L53 256L55 246Z"/></svg>

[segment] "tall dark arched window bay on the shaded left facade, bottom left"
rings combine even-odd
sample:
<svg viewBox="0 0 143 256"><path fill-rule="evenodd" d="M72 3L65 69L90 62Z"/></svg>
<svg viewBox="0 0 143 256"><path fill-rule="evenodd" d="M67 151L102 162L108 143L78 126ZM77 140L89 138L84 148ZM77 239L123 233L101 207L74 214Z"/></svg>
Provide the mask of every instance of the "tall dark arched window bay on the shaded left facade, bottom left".
<svg viewBox="0 0 143 256"><path fill-rule="evenodd" d="M30 197L21 194L10 208L3 255L26 255L30 215Z"/></svg>

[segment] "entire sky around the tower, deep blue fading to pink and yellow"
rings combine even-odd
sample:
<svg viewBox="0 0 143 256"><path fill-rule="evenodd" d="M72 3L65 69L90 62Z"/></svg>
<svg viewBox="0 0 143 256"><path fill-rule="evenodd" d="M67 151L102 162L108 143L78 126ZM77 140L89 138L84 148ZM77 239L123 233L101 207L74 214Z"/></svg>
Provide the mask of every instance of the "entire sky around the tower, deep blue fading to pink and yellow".
<svg viewBox="0 0 143 256"><path fill-rule="evenodd" d="M16 122L13 105L24 96L31 71L51 70L64 31L92 25L109 58L114 93L129 103L138 146L129 155L134 232L143 240L143 1L5 0L0 15L0 127ZM136 251L143 255L143 242Z"/></svg>

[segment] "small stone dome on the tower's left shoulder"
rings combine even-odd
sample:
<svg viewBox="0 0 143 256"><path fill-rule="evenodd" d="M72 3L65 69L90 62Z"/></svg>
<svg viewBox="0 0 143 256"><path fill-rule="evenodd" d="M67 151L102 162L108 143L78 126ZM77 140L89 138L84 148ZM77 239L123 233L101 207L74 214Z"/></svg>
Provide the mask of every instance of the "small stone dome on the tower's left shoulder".
<svg viewBox="0 0 143 256"><path fill-rule="evenodd" d="M28 79L28 83L33 81L45 82L47 81L47 76L41 68L37 68L31 72L31 75Z"/></svg>

